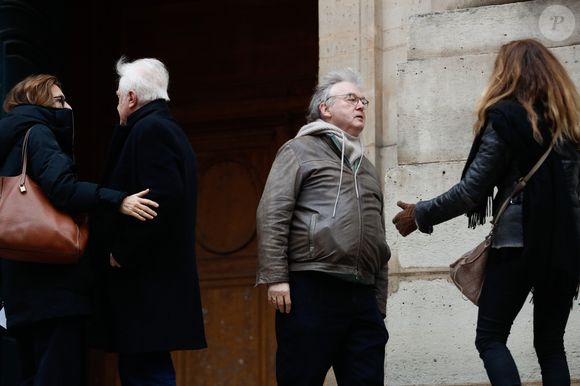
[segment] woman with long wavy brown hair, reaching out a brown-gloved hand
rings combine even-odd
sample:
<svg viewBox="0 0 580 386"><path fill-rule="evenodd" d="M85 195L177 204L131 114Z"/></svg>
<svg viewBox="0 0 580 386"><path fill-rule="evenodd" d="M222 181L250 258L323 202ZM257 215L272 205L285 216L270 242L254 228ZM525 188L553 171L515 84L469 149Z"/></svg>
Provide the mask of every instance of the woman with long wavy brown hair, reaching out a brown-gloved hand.
<svg viewBox="0 0 580 386"><path fill-rule="evenodd" d="M564 332L580 282L580 97L546 47L518 40L501 47L476 113L461 181L431 200L398 202L403 210L393 223L403 236L417 228L431 233L463 213L470 227L483 224L553 143L495 224L476 347L493 385L520 385L506 342L532 291L543 384L569 385Z"/></svg>

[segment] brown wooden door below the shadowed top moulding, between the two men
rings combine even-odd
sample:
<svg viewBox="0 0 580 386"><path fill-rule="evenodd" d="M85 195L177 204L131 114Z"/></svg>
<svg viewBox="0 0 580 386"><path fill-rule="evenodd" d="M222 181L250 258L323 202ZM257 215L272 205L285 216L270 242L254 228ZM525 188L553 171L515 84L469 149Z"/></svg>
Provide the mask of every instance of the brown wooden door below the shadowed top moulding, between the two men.
<svg viewBox="0 0 580 386"><path fill-rule="evenodd" d="M197 132L197 256L207 350L175 355L182 385L274 385L274 312L256 288L256 208L280 127Z"/></svg>

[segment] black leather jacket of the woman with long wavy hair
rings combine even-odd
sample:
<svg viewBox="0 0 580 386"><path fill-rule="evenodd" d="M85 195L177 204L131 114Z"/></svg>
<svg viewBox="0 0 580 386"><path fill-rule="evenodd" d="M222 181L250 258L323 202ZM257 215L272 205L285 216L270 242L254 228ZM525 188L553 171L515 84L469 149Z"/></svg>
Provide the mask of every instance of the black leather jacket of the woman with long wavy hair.
<svg viewBox="0 0 580 386"><path fill-rule="evenodd" d="M479 151L464 178L447 192L431 200L417 203L415 219L421 232L431 233L433 225L473 209L487 199L486 194L493 187L497 187L493 205L494 215L511 194L521 175L507 144L490 125L485 129ZM580 152L569 143L558 146L555 150L563 159L576 224L580 232ZM525 191L510 201L510 205L496 225L494 248L524 246L523 194Z"/></svg>

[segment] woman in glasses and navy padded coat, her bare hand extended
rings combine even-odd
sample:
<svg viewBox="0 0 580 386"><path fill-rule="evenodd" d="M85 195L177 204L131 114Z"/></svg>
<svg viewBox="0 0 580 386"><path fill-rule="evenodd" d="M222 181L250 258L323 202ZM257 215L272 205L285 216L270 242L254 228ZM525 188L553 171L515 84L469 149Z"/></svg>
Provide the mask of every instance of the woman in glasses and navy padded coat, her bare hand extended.
<svg viewBox="0 0 580 386"><path fill-rule="evenodd" d="M56 208L68 213L109 208L135 221L156 216L157 203L143 197L147 190L128 195L77 179L72 109L56 77L25 78L6 95L4 110L8 115L0 121L0 175L20 173L22 144L30 129L27 174ZM20 384L83 384L83 325L91 311L88 259L51 265L1 257L0 304L8 332L18 342Z"/></svg>

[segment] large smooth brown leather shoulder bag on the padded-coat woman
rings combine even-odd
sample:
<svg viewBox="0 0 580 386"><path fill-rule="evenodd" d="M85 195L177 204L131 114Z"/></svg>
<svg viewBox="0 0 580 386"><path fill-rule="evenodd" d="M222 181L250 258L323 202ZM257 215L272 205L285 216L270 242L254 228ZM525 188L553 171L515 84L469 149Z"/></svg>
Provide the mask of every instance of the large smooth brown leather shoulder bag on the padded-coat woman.
<svg viewBox="0 0 580 386"><path fill-rule="evenodd" d="M26 175L30 129L22 144L22 173L0 177L0 257L49 264L76 263L88 241L84 218L56 209Z"/></svg>

